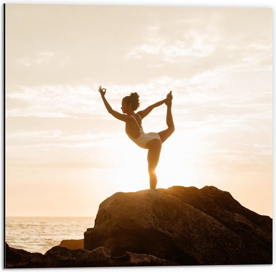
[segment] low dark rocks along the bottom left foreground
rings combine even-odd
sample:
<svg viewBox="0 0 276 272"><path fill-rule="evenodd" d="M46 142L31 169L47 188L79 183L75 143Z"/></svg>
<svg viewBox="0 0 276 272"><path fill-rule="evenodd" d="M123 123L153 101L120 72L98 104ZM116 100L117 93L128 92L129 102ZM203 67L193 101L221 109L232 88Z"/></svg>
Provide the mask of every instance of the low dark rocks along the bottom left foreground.
<svg viewBox="0 0 276 272"><path fill-rule="evenodd" d="M54 246L44 255L11 248L6 243L5 268L52 268L52 267L107 267L107 266L157 266L177 265L152 255L126 252L122 256L111 256L110 250L98 247L88 251Z"/></svg>

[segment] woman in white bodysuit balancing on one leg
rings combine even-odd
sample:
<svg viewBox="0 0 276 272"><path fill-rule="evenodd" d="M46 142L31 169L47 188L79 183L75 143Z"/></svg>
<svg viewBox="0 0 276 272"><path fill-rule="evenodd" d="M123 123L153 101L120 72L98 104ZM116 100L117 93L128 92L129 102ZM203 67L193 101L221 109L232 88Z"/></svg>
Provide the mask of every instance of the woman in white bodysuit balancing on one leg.
<svg viewBox="0 0 276 272"><path fill-rule="evenodd" d="M134 113L134 110L140 106L139 95L136 92L131 93L129 96L125 96L122 99L121 110L123 114L113 110L108 104L105 98L106 89L99 86L98 91L101 94L101 98L107 111L115 118L125 122L125 132L130 140L132 140L139 147L149 150L148 170L150 176L150 188L155 189L157 185L157 176L155 170L159 161L162 144L175 130L172 115L172 91L168 93L164 100L161 100L137 113ZM142 119L145 118L155 107L158 107L164 103L167 105L166 122L168 128L158 133L145 133L142 127Z"/></svg>

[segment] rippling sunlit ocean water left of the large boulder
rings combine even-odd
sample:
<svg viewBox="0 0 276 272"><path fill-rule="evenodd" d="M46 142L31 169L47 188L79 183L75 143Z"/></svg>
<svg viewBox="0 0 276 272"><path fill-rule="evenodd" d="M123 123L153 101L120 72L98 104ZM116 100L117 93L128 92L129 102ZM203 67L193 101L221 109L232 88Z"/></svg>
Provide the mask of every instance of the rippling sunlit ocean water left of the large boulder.
<svg viewBox="0 0 276 272"><path fill-rule="evenodd" d="M6 242L10 247L45 253L62 240L83 239L95 217L6 217Z"/></svg>

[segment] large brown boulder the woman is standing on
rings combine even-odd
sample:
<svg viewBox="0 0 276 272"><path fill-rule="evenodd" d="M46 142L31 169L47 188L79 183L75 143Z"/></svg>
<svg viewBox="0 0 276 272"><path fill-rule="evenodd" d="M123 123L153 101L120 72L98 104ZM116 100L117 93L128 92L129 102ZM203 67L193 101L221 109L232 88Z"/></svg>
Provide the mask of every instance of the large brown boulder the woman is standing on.
<svg viewBox="0 0 276 272"><path fill-rule="evenodd" d="M181 265L271 264L272 219L213 186L119 192L84 233L84 249L101 246Z"/></svg>

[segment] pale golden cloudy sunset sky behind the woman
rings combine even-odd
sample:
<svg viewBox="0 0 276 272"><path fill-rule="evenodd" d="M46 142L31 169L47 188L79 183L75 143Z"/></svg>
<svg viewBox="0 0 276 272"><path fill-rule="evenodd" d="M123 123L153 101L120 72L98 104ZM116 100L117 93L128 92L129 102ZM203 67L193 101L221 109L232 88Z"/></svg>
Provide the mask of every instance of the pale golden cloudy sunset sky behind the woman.
<svg viewBox="0 0 276 272"><path fill-rule="evenodd" d="M149 188L120 111L173 91L157 188L215 186L272 217L272 10L6 5L6 215L95 216ZM143 120L166 128L166 106Z"/></svg>

